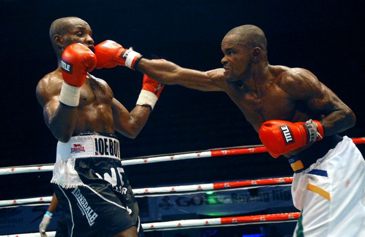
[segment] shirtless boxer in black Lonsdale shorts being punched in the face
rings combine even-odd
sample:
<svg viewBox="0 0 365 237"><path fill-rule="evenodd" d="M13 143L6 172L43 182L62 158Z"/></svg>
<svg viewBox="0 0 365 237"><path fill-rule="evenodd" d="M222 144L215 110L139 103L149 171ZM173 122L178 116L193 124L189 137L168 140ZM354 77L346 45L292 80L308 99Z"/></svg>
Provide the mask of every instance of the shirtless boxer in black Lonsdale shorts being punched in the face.
<svg viewBox="0 0 365 237"><path fill-rule="evenodd" d="M138 205L121 165L114 135L135 138L161 93L148 76L128 110L96 65L90 26L77 17L55 20L50 38L58 67L36 87L46 125L58 140L51 183L67 220L68 236L143 236Z"/></svg>

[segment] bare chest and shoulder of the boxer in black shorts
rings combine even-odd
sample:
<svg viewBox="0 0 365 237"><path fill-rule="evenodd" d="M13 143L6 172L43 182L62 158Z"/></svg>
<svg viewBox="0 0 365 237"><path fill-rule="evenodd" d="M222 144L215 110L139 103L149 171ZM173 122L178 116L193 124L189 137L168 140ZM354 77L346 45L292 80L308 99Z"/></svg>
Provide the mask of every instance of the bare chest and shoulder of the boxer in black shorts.
<svg viewBox="0 0 365 237"><path fill-rule="evenodd" d="M59 106L62 82L61 71L55 70L44 76L36 89L36 96L44 109L44 119L48 127ZM88 74L81 90L74 134L85 131L114 134L113 97L111 88L103 80Z"/></svg>

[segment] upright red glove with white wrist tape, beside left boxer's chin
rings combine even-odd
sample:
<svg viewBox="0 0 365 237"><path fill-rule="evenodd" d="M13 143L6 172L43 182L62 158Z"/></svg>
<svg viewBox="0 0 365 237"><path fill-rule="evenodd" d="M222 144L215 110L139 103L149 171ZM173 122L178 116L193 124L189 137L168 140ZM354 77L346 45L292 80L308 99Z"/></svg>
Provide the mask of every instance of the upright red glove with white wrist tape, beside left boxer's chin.
<svg viewBox="0 0 365 237"><path fill-rule="evenodd" d="M96 66L95 54L80 43L66 47L61 56L63 84L60 102L69 106L78 106L80 91L85 83L87 72Z"/></svg>

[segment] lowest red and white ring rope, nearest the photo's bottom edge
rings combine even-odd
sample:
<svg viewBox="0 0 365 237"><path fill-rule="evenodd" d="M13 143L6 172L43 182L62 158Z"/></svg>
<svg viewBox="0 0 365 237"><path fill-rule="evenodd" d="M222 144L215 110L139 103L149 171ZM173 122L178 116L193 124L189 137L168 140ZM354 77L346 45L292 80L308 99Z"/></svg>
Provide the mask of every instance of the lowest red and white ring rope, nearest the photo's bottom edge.
<svg viewBox="0 0 365 237"><path fill-rule="evenodd" d="M265 224L272 222L289 222L296 221L300 216L300 212L278 213L255 216L235 216L235 217L220 217L208 219L190 219L190 220L176 220L166 222L142 223L143 231L153 230L169 230L169 229L184 229L184 228L201 228L212 226L230 226L230 225L244 225L244 224ZM34 234L34 235L33 235ZM55 231L47 232L47 236L54 236ZM30 237L39 236L39 233L25 233L2 235L11 237Z"/></svg>

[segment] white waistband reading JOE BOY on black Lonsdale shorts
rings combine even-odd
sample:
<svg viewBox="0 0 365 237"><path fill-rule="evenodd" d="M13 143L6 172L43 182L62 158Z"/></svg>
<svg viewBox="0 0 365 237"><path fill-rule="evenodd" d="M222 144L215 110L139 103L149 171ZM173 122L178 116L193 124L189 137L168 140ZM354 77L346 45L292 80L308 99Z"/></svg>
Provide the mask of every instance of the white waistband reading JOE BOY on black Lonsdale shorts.
<svg viewBox="0 0 365 237"><path fill-rule="evenodd" d="M119 140L101 135L86 135L71 137L66 143L57 143L56 162L96 156L120 159Z"/></svg>

